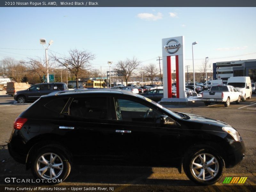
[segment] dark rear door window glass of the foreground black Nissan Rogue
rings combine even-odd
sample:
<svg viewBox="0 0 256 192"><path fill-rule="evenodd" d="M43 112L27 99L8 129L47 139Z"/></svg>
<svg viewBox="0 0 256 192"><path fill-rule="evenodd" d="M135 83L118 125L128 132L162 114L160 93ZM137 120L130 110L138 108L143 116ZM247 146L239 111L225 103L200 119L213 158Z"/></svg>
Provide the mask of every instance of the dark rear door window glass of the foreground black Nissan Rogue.
<svg viewBox="0 0 256 192"><path fill-rule="evenodd" d="M107 98L74 98L69 106L69 115L83 118L107 119Z"/></svg>

